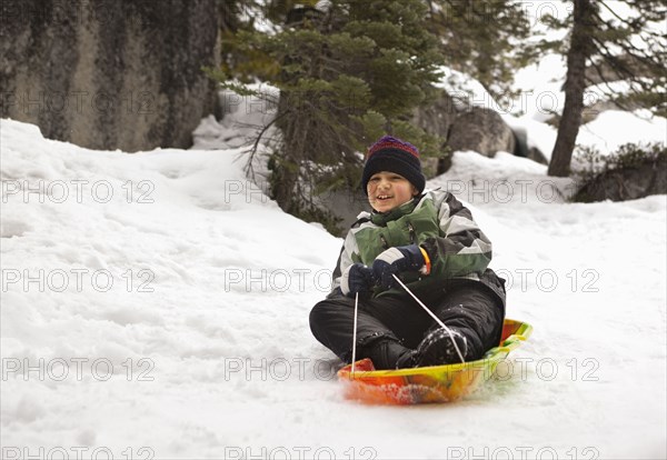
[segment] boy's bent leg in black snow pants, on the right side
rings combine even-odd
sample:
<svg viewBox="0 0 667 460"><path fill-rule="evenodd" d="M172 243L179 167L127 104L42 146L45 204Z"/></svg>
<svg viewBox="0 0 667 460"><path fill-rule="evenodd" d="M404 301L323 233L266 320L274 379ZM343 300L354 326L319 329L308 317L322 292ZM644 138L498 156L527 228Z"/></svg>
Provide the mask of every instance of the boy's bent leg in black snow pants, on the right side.
<svg viewBox="0 0 667 460"><path fill-rule="evenodd" d="M434 312L466 339L466 361L480 359L500 341L505 320L502 301L480 282L466 282L449 290L437 302ZM438 329L440 326L434 321L426 337Z"/></svg>

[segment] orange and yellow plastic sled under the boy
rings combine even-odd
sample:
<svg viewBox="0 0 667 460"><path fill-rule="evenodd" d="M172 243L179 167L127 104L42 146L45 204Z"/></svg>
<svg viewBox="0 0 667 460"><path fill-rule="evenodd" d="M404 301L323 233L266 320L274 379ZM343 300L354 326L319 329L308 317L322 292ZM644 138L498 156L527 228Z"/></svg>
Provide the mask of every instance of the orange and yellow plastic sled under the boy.
<svg viewBox="0 0 667 460"><path fill-rule="evenodd" d="M456 401L471 393L490 379L498 363L527 340L532 327L526 322L506 319L498 347L487 351L477 361L397 370L375 370L366 358L338 371L345 396L376 404L417 404Z"/></svg>

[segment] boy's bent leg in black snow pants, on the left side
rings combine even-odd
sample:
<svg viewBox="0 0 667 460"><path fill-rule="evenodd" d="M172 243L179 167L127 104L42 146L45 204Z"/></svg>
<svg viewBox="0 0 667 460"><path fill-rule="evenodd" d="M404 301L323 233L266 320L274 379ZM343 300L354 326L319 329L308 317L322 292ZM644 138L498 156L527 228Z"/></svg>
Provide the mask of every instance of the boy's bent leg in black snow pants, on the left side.
<svg viewBox="0 0 667 460"><path fill-rule="evenodd" d="M392 369L410 350L402 342L418 342L428 316L411 299L382 297L359 300L357 359L370 358L376 369ZM315 338L342 361L351 361L355 299L337 297L317 303L310 311Z"/></svg>

